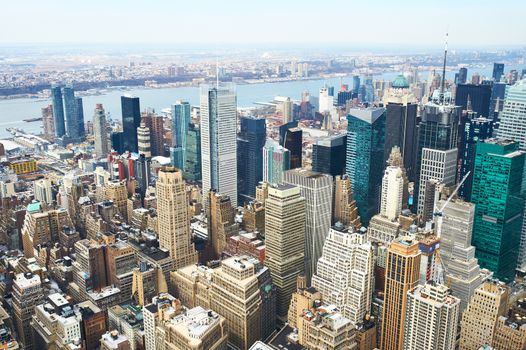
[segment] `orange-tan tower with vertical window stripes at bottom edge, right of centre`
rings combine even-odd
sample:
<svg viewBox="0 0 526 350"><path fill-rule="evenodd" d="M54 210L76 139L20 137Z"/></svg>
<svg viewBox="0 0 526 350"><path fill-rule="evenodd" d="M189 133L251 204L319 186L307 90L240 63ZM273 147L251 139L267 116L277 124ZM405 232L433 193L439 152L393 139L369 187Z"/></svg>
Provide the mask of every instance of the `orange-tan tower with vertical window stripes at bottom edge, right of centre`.
<svg viewBox="0 0 526 350"><path fill-rule="evenodd" d="M400 237L387 251L380 349L404 348L407 292L418 285L420 275L418 246L418 241Z"/></svg>

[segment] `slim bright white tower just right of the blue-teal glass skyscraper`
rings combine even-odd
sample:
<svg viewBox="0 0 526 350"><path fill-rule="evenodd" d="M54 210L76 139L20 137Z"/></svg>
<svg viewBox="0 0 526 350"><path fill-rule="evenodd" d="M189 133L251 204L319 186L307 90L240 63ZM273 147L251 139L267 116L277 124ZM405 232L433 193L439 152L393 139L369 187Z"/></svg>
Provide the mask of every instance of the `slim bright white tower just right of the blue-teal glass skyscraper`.
<svg viewBox="0 0 526 350"><path fill-rule="evenodd" d="M388 166L382 178L382 199L380 203L380 214L394 221L402 212L402 200L404 197L404 178L402 169Z"/></svg>

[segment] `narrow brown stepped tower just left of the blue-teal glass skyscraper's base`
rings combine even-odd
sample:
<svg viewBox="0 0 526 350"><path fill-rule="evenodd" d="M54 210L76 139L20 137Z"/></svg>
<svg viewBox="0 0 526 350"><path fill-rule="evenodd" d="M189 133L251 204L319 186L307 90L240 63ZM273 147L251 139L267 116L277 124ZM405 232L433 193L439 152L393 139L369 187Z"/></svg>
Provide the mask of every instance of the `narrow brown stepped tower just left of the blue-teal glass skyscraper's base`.
<svg viewBox="0 0 526 350"><path fill-rule="evenodd" d="M351 181L347 175L334 178L332 222L334 224L341 222L354 230L362 226L356 201L352 197Z"/></svg>

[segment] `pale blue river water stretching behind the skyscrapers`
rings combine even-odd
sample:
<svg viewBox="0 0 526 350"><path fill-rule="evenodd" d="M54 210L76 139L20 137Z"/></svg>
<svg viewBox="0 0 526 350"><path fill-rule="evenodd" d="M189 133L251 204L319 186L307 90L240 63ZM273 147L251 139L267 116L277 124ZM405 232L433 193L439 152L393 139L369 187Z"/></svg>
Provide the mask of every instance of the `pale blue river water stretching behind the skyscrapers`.
<svg viewBox="0 0 526 350"><path fill-rule="evenodd" d="M521 71L522 67L506 67L514 68ZM468 69L469 73L479 72L481 75L491 76L492 67L484 67L482 69ZM397 72L384 73L382 76L376 76L375 79L393 80L398 75ZM429 72L420 72L420 79L427 79ZM453 79L454 71L447 72L447 79ZM352 87L352 77L345 77L342 79L343 84L348 84ZM314 96L324 84L335 86L338 90L340 85L340 78L319 79L319 80L296 80L279 83L264 83L264 84L250 84L238 85L237 101L239 107L251 107L255 102L269 102L275 96L290 96L292 99L300 99L302 92L309 91ZM104 95L98 96L84 96L84 119L91 120L95 104L102 103L106 112L109 112L110 117L119 119L121 116L120 96L123 94L131 94L140 98L141 109L147 107L154 108L160 112L163 108L170 107L178 99L183 99L190 102L192 105L199 104L199 88L197 87L178 87L178 88L162 88L162 89L147 89L144 87L131 88L125 91L110 90ZM41 122L24 122L23 119L35 118L41 116L41 108L47 106L49 100L38 99L14 99L0 101L0 138L10 137L6 128L15 127L22 129L29 133L38 134L42 131Z"/></svg>

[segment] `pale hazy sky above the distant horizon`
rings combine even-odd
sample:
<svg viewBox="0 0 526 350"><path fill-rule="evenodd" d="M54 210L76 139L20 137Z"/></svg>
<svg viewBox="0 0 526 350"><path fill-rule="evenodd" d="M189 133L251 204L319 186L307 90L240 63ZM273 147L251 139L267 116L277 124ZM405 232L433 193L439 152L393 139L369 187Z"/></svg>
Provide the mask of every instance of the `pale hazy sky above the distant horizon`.
<svg viewBox="0 0 526 350"><path fill-rule="evenodd" d="M2 0L0 44L526 44L526 0Z"/></svg>

